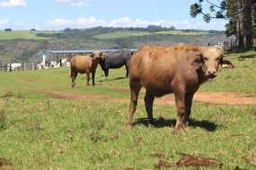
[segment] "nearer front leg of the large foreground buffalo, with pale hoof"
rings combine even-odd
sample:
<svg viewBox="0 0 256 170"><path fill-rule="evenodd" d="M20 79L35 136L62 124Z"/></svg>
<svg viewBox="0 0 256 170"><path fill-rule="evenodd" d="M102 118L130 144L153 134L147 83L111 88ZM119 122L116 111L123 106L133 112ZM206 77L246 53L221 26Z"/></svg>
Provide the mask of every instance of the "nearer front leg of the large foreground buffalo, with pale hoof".
<svg viewBox="0 0 256 170"><path fill-rule="evenodd" d="M185 129L185 123L183 123L184 115L185 115L185 91L177 90L174 92L175 95L175 103L177 107L177 121L175 125L175 130Z"/></svg>

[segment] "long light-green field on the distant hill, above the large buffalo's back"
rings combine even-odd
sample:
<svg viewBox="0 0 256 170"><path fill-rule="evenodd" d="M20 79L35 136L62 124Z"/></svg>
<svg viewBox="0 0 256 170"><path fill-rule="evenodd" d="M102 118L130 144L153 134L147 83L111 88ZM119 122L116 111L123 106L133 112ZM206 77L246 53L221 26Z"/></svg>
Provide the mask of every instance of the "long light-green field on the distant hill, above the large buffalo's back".
<svg viewBox="0 0 256 170"><path fill-rule="evenodd" d="M137 37L137 36L148 36L153 34L196 36L196 35L206 35L207 32L205 31L184 32L181 30L168 30L168 31L160 31L160 32L154 32L154 33L148 33L146 31L120 31L120 32L99 34L99 35L93 36L93 38L99 38L99 39L130 38L130 37Z"/></svg>

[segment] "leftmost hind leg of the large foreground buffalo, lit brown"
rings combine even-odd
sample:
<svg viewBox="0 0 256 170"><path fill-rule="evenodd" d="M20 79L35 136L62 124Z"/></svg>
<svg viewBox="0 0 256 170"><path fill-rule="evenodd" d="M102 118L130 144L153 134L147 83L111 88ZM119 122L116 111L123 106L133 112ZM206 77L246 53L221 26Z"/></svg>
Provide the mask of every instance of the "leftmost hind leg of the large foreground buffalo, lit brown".
<svg viewBox="0 0 256 170"><path fill-rule="evenodd" d="M139 85L139 83L130 84L129 116L128 123L126 124L127 129L131 129L132 127L132 118L136 111L137 97L140 89L141 86Z"/></svg>

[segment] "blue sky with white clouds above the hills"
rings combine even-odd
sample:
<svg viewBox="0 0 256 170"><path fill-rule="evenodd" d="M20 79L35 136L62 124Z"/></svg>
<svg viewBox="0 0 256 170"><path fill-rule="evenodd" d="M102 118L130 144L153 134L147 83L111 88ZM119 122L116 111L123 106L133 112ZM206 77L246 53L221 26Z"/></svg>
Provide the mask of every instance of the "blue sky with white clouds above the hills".
<svg viewBox="0 0 256 170"><path fill-rule="evenodd" d="M224 20L206 23L202 16L191 18L190 4L196 2L198 0L0 0L0 30L146 27L150 24L176 29L225 30Z"/></svg>

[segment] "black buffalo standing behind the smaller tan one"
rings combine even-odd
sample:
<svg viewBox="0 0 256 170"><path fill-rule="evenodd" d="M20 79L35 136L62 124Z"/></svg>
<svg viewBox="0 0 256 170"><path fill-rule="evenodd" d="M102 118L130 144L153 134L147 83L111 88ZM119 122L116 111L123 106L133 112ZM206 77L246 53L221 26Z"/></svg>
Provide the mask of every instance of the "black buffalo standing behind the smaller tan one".
<svg viewBox="0 0 256 170"><path fill-rule="evenodd" d="M128 77L128 63L132 54L128 49L104 53L100 60L100 65L105 76L109 76L109 69L116 69L125 65L127 70L126 76Z"/></svg>

